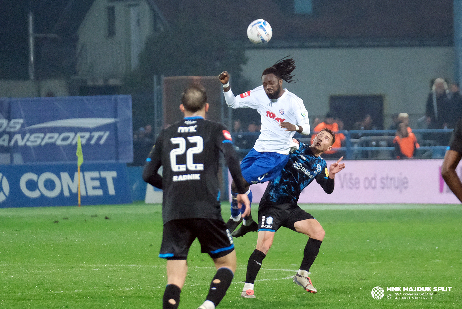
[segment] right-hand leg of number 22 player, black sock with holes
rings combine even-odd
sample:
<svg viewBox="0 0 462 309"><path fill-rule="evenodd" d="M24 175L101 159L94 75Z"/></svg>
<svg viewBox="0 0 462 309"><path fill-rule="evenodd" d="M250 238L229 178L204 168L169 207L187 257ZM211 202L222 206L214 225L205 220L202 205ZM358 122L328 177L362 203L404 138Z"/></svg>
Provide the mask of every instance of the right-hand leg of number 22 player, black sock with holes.
<svg viewBox="0 0 462 309"><path fill-rule="evenodd" d="M236 251L233 250L225 256L213 259L213 262L217 268L217 273L210 283L206 301L198 309L215 309L225 297L236 272Z"/></svg>

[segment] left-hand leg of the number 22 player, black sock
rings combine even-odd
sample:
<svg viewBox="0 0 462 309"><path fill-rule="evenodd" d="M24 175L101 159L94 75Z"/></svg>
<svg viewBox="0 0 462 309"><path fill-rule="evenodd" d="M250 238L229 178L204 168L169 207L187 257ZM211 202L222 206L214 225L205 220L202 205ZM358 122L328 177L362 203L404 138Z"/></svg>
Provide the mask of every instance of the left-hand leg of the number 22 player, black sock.
<svg viewBox="0 0 462 309"><path fill-rule="evenodd" d="M186 260L167 260L167 286L164 291L163 309L178 308L186 273L188 273Z"/></svg>

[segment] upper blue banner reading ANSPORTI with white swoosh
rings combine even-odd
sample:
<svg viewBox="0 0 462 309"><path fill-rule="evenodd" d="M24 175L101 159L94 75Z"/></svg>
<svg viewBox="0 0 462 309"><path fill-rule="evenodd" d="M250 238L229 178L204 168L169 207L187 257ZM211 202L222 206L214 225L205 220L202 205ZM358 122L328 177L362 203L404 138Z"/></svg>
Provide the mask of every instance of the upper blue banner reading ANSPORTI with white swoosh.
<svg viewBox="0 0 462 309"><path fill-rule="evenodd" d="M131 96L0 98L3 164L133 162Z"/></svg>

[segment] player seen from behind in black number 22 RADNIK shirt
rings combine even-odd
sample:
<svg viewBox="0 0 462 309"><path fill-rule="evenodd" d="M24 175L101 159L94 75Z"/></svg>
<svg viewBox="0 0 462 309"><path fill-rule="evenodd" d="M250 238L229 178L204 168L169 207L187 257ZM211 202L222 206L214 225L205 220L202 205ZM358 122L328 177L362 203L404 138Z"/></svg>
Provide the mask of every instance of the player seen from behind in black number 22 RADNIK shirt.
<svg viewBox="0 0 462 309"><path fill-rule="evenodd" d="M164 190L164 229L159 254L167 259L164 309L178 308L188 270L188 250L195 238L201 243L201 251L210 255L217 268L206 301L199 309L214 309L219 304L236 271L234 244L221 217L219 151L224 153L240 193L238 207L246 203L250 212L231 134L225 125L204 119L208 107L204 88L197 84L189 86L182 94L180 105L184 119L162 130L143 171L146 182ZM163 176L158 174L160 166L163 166Z"/></svg>

